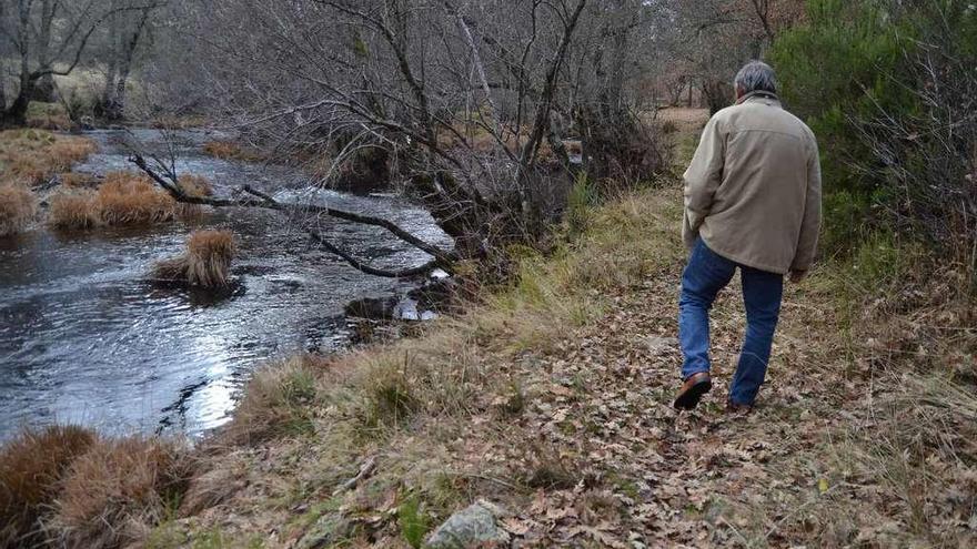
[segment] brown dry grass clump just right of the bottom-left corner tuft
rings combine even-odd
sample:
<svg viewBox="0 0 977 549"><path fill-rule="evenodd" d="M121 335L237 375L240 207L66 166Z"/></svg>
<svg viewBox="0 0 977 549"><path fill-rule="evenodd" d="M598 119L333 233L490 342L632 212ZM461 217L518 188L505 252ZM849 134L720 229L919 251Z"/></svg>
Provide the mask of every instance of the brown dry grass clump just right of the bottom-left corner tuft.
<svg viewBox="0 0 977 549"><path fill-rule="evenodd" d="M192 468L185 448L159 438L100 443L71 465L47 533L67 547L128 547L174 511Z"/></svg>

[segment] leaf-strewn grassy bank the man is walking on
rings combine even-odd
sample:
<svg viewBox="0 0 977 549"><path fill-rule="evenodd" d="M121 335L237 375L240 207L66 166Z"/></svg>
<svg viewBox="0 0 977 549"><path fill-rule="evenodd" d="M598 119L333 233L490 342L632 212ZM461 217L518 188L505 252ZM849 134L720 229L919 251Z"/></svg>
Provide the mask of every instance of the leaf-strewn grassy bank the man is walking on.
<svg viewBox="0 0 977 549"><path fill-rule="evenodd" d="M723 411L744 324L734 284L714 312L717 387L677 415L681 213L675 179L580 206L573 237L546 257L515 253L516 282L463 315L259 372L222 433L153 461L159 478L185 481L141 485L148 497L124 512L99 512L112 498L66 508L94 450L71 454L40 523L90 547L406 548L481 498L535 547L977 541L965 270L884 243L823 262L787 289L749 416ZM92 448L107 444L120 443ZM127 467L105 478L130 478ZM117 516L124 528L98 522ZM88 528L63 526L72 517ZM92 525L119 533L95 538Z"/></svg>

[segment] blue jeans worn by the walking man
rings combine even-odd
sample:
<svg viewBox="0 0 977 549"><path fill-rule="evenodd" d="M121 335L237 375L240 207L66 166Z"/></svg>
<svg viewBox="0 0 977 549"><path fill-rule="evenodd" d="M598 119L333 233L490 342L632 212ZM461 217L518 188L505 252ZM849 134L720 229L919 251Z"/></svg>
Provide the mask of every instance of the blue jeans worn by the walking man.
<svg viewBox="0 0 977 549"><path fill-rule="evenodd" d="M729 400L752 406L767 374L774 332L780 316L784 276L722 257L709 250L702 238L696 241L688 266L682 275L682 297L678 302L678 339L685 355L682 378L709 372L709 309L719 291L733 279L736 267L739 267L743 278L747 326L739 364L729 386Z"/></svg>

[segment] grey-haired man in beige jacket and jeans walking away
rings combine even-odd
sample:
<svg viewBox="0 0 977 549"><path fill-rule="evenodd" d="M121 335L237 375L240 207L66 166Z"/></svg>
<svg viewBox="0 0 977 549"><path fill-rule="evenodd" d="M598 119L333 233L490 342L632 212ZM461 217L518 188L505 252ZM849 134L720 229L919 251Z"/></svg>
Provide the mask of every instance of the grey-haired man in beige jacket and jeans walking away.
<svg viewBox="0 0 977 549"><path fill-rule="evenodd" d="M716 113L685 172L678 338L685 363L675 407L693 409L712 388L709 309L736 270L746 338L728 408L753 408L780 313L784 276L800 282L820 228L820 163L814 133L780 106L774 70L754 61L736 75L736 104Z"/></svg>

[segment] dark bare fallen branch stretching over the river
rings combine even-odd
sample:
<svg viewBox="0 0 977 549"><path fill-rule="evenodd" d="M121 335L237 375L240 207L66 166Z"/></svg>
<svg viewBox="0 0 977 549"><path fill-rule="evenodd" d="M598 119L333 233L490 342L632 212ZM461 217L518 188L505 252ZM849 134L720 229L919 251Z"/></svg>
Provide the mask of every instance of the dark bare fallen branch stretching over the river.
<svg viewBox="0 0 977 549"><path fill-rule="evenodd" d="M417 266L417 267L409 267L399 271L390 271L379 267L373 267L367 265L360 260L355 258L349 252L344 252L335 244L329 242L325 237L322 236L318 231L305 227L305 232L312 237L312 240L320 245L326 252L335 254L340 256L343 261L349 263L351 266L361 271L365 274L373 276L382 276L386 278L401 278L407 276L416 276L424 274L434 270L435 267L443 268L444 271L452 272L452 264L457 261L457 256L454 253L445 252L444 250L439 248L437 246L433 246L421 238L414 236L410 232L400 227L395 223L384 220L382 217L374 217L371 215L363 215L354 212L346 212L344 210L335 210L329 206L321 206L316 204L286 204L274 200L272 196L253 189L250 185L243 185L239 191L239 196L232 199L220 199L215 196L197 196L187 194L183 189L178 183L179 177L172 167L167 167L163 162L157 160L157 164L161 166L161 171L163 174L160 174L157 170L149 165L145 161L145 157L141 154L133 153L130 159L130 162L135 164L142 172L149 175L150 179L153 180L160 187L162 187L167 193L173 197L177 202L185 203L185 204L199 204L207 205L213 207L260 207L266 210L274 210L283 213L293 213L293 214L304 214L304 215L325 215L329 217L334 217L338 220L348 221L351 223L359 223L363 225L372 225L385 228L387 232L400 238L401 241L411 244L412 246L425 252L434 257L433 261Z"/></svg>

